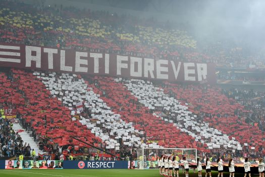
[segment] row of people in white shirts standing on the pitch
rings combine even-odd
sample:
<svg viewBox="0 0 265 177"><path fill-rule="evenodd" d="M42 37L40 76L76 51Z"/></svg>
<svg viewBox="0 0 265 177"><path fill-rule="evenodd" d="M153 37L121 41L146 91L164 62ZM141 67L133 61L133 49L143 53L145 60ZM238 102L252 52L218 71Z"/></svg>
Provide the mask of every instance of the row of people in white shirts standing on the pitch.
<svg viewBox="0 0 265 177"><path fill-rule="evenodd" d="M179 177L179 166L182 166L183 169L185 169L185 175L186 177L189 176L189 162L186 160L186 157L183 157L180 162L177 160L176 156L165 156L162 155L161 157L157 158L157 163L158 167L160 168L160 174L164 176L172 176L172 172L174 173L174 177L177 175ZM218 164L218 177L223 177L223 172L224 172L224 164L223 160L219 158L217 160ZM248 174L249 177L251 177L250 173L250 166L251 163L248 161L248 158L245 158L244 161L244 170L245 170L245 175ZM202 177L202 163L200 162L200 158L197 158L197 171L198 171L198 177ZM229 167L229 172L230 172L230 177L235 176L235 163L233 159L231 158L228 163ZM209 174L209 177L211 177L211 162L209 158L206 158L205 161L205 177ZM262 158L259 159L258 161L258 172L259 172L259 177L264 177L264 172L265 172L265 163L262 162Z"/></svg>

